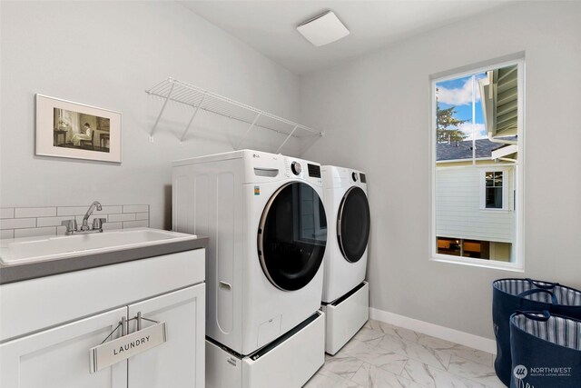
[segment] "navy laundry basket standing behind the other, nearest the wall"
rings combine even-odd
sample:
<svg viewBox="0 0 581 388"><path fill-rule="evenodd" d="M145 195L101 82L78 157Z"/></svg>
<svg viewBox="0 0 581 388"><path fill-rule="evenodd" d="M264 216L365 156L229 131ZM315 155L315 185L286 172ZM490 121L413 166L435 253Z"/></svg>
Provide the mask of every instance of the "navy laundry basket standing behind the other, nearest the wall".
<svg viewBox="0 0 581 388"><path fill-rule="evenodd" d="M510 384L510 315L517 310L543 311L581 319L581 291L532 279L498 279L492 283L492 322L497 339L497 376Z"/></svg>

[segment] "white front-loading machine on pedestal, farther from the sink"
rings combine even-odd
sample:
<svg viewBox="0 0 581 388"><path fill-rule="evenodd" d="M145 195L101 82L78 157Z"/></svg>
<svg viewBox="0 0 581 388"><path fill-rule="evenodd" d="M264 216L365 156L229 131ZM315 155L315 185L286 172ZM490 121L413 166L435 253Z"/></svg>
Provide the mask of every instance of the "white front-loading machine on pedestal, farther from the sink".
<svg viewBox="0 0 581 388"><path fill-rule="evenodd" d="M325 350L334 354L369 319L369 284L364 280L370 212L366 174L334 165L321 171L329 231L322 294Z"/></svg>

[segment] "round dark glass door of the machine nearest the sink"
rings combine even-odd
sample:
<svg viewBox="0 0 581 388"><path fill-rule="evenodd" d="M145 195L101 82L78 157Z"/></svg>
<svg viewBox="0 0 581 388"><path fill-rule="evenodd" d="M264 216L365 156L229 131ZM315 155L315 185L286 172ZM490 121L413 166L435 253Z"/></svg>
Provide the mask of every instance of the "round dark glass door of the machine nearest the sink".
<svg viewBox="0 0 581 388"><path fill-rule="evenodd" d="M309 184L281 186L264 208L258 253L262 271L276 287L299 290L319 271L327 244L325 209Z"/></svg>

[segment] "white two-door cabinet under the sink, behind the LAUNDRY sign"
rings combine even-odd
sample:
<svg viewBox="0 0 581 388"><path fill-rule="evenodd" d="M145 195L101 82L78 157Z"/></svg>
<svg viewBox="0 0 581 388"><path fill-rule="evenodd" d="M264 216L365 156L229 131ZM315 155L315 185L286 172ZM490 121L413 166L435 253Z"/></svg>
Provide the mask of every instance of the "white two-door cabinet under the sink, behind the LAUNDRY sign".
<svg viewBox="0 0 581 388"><path fill-rule="evenodd" d="M200 249L0 286L0 302L11 313L0 314L0 325L9 329L5 333L17 334L0 338L0 387L203 387L204 261ZM168 282L166 276L172 274L186 276ZM18 301L20 310L12 310L9 300ZM103 300L109 309L103 309ZM43 308L39 303L52 303L53 316L38 314ZM15 323L34 317L34 311L38 324L27 326L26 333L16 332ZM137 313L143 317L142 329L153 321L165 322L166 342L90 373L90 349L112 332L107 341L119 338L123 317L128 333L134 333ZM54 316L60 317L59 323L53 324Z"/></svg>

